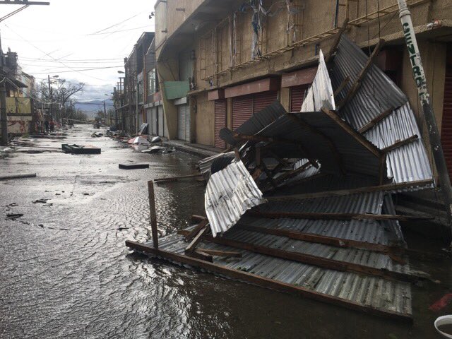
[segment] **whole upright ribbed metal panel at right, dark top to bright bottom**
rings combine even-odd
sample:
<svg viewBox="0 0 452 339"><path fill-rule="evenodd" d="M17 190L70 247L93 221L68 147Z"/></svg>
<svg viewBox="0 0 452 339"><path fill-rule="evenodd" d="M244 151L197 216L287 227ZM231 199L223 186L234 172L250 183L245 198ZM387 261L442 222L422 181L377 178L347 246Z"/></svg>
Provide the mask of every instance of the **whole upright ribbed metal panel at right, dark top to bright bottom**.
<svg viewBox="0 0 452 339"><path fill-rule="evenodd" d="M368 59L366 54L345 35L341 37L331 72L333 87L337 88L346 76L350 76L351 81L341 91L340 98L345 97ZM419 136L417 141L400 146L388 153L387 174L388 177L393 178L393 182L396 184L432 179L427 151L408 99L379 67L370 66L362 79L359 90L344 107L340 107L339 114L355 129L359 129L378 117L381 112L391 108L397 109L364 133L364 136L381 149L410 136ZM404 190L413 189L419 188Z"/></svg>

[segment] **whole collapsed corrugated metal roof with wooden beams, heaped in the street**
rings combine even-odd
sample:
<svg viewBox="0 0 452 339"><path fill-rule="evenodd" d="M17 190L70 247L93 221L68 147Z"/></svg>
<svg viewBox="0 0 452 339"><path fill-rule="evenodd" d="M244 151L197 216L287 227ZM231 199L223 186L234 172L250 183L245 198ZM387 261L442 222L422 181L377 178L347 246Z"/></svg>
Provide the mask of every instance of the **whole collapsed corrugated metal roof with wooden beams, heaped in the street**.
<svg viewBox="0 0 452 339"><path fill-rule="evenodd" d="M198 225L179 232L183 237L171 234L162 238L159 244L154 239L157 226L153 225L153 244L126 242L126 245L222 276L371 314L412 321L411 289L406 281L426 277L410 272L408 256L413 252L405 248L398 224L398 220L407 217L395 214L390 194L432 186L432 171L422 139L417 138L420 133L405 95L372 62L378 48L367 58L345 35L336 41L338 45L333 46L326 61L328 65L333 62L331 73L327 73L333 83L331 90L335 89L333 99L340 102L336 112L333 112L335 104L330 109L322 107L319 112L307 112L306 119L309 114L312 117L311 121L306 121L302 116L306 112L294 114L281 112L275 106L267 107L239 129L222 131L222 137L235 147L234 153L228 153L227 157L235 155L237 159L228 160L229 164L225 162L214 171L213 163L224 155L200 162L201 173L210 177L208 186L213 187L218 180L224 179L215 174L243 163L258 186L273 186L272 195L266 196L268 203L239 218L236 226L224 232L222 237L208 235L210 218L198 218L201 221ZM347 57L347 53L352 53L352 56ZM320 61L319 64L323 63ZM319 67L319 72L322 67ZM389 88L396 90L390 95L375 91L372 81L389 83ZM321 82L314 81L312 87L316 85L321 86ZM384 88L388 86L379 86L379 89ZM373 94L369 96L369 93ZM319 97L322 97L321 88L320 92L319 88L312 88L302 110L309 105L315 108L316 101L325 105ZM363 103L370 108L361 114L359 105ZM378 157L378 178L375 174L357 176L343 166L338 166L339 170L331 174L326 161L322 164L314 158L315 155L291 162L275 154L272 145L285 145L290 150L295 139L281 140L279 135L266 134L266 129L270 131L268 126L278 126L285 119L293 123L293 119L299 117L302 117L302 125L307 125L299 126L300 129L321 138L329 155L340 153L336 139L321 130L321 124L316 125L314 118L331 119L335 128L352 136L354 145L364 146L366 152ZM397 126L396 131L388 129L391 124ZM242 145L240 149L239 145ZM297 150L290 151L293 155ZM302 153L302 150L298 151ZM268 158L276 160L278 165L268 168ZM398 167L396 160L405 162L406 168ZM421 165L410 172L415 161ZM284 172L288 165L292 165L292 169ZM274 175L275 172L278 173ZM359 172L366 174L364 170ZM244 175L244 179L249 180L250 176ZM297 183L302 184L297 186ZM211 203L215 202L215 198L211 199L212 192L206 191L206 202L210 201L206 209L207 205L215 206ZM237 196L232 198L234 189L230 192L232 195L217 195L217 201L222 200L222 206L233 205L234 201L243 205L243 201L237 201ZM240 214L243 209L237 210ZM274 218L267 218L268 213L273 213ZM153 215L155 218L155 211L152 213L151 210L151 221ZM237 219L237 214L233 219ZM224 226L220 218L214 223L218 224L214 226L218 230ZM390 233L384 230L390 230ZM190 241L189 246L186 246L186 241ZM231 249L236 254L239 252L240 258L236 261L222 257L231 254ZM382 275L381 270L385 274Z"/></svg>

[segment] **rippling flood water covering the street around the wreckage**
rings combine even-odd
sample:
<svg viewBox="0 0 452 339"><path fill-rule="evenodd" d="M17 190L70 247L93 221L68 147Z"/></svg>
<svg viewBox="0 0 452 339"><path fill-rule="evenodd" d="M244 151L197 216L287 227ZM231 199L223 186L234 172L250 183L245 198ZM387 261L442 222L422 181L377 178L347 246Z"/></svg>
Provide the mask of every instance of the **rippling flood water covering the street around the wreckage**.
<svg viewBox="0 0 452 339"><path fill-rule="evenodd" d="M93 144L101 155L0 159L2 175L37 173L0 182L0 338L439 338L433 321L452 308L427 307L448 292L444 285L413 287L410 325L134 254L126 240L150 239L146 181L192 174L199 158L143 154L93 131L79 125L65 139L33 143ZM130 161L150 168L118 168ZM192 179L156 186L160 236L203 214L203 189ZM444 266L436 278L450 281Z"/></svg>

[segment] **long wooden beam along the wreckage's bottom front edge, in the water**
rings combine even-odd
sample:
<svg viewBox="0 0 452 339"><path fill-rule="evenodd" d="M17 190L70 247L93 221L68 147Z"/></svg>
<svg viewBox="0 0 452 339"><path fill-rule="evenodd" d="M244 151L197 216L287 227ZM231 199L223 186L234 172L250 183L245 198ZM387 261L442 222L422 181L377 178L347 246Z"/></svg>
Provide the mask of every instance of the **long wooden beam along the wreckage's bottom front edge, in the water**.
<svg viewBox="0 0 452 339"><path fill-rule="evenodd" d="M364 304L359 304L358 302L353 302L349 299L343 299L340 297L335 297L332 295L326 295L324 293L316 292L314 290L309 290L307 287L301 287L297 285L291 285L288 283L283 283L279 280L274 280L270 278L261 277L259 275L244 272L243 270L236 270L234 268L227 268L221 266L217 263L208 263L196 258L189 258L181 254L175 254L170 251L164 251L162 249L153 249L145 244L140 244L138 242L126 241L126 246L136 251L141 251L151 256L160 256L161 258L166 258L169 261L176 261L182 265L189 265L196 268L201 268L203 270L208 270L211 273L226 276L228 278L246 281L251 284L255 284L261 287L271 288L280 292L291 292L295 293L301 297L306 297L309 299L314 299L319 302L326 302L328 304L335 304L340 307L345 307L347 309L354 309L356 311L361 311L367 314L374 314L376 316L383 316L388 319L396 319L399 321L412 322L412 317L409 314L402 314L395 311L389 311L386 309L379 309L377 307L370 307Z"/></svg>

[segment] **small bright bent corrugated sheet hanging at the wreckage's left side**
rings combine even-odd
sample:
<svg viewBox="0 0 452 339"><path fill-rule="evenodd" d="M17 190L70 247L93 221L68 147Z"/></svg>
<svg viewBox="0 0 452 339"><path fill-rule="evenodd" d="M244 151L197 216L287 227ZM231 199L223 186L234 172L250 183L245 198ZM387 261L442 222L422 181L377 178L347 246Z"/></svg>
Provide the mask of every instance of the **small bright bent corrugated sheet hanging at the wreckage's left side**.
<svg viewBox="0 0 452 339"><path fill-rule="evenodd" d="M242 161L234 160L225 169L213 173L204 198L213 236L228 230L246 210L264 201Z"/></svg>

